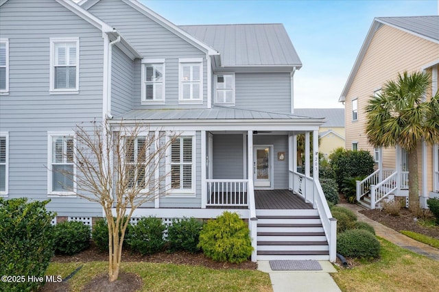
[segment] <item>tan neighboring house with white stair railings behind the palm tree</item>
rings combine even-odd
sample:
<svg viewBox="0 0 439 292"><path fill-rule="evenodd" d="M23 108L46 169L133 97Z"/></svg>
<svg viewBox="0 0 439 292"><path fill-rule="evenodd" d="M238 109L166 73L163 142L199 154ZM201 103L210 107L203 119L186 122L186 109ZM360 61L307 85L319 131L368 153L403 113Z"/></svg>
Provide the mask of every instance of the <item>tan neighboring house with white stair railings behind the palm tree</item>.
<svg viewBox="0 0 439 292"><path fill-rule="evenodd" d="M357 188L357 199L365 197L370 208L389 196L407 197L408 161L399 146L378 149L368 144L364 132L368 99L403 71L431 74L429 96L434 95L438 91L438 65L439 16L374 19L339 99L346 107L346 149L368 150L377 162L377 171ZM439 146L419 143L420 204L426 208L428 198L439 196Z"/></svg>

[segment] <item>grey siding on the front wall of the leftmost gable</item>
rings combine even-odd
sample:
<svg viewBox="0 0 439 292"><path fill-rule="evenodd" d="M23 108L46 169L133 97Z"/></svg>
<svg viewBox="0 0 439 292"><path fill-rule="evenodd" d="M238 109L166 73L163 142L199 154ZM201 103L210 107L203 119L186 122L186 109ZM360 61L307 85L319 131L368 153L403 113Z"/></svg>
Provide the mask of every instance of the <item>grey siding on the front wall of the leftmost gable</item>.
<svg viewBox="0 0 439 292"><path fill-rule="evenodd" d="M72 29L75 27L75 29ZM51 0L11 0L0 9L9 39L10 93L0 96L0 131L9 133L9 198L47 199L47 131L71 132L102 118L102 32ZM49 95L49 38L78 37L79 94ZM99 216L79 198L52 198L58 216Z"/></svg>

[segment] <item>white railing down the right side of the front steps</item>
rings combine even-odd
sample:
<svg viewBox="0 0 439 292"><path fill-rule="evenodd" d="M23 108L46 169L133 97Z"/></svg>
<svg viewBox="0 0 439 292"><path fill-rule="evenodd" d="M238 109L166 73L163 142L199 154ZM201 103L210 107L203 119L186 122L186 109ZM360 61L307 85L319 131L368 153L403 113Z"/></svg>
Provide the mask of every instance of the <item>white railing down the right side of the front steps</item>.
<svg viewBox="0 0 439 292"><path fill-rule="evenodd" d="M313 208L317 209L322 221L324 234L329 245L329 260L335 262L337 247L337 219L331 215L327 199L324 197L320 182L309 178L302 173L289 171L290 181L293 182L292 191L305 198L305 202L312 202Z"/></svg>

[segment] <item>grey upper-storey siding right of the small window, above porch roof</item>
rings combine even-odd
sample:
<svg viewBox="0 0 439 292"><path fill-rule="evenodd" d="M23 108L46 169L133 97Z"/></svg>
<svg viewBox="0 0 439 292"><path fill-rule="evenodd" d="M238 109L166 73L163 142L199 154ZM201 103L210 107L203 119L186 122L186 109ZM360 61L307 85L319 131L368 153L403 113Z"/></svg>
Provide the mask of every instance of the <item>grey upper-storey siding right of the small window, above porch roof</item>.
<svg viewBox="0 0 439 292"><path fill-rule="evenodd" d="M289 73L236 73L235 106L264 112L291 112Z"/></svg>

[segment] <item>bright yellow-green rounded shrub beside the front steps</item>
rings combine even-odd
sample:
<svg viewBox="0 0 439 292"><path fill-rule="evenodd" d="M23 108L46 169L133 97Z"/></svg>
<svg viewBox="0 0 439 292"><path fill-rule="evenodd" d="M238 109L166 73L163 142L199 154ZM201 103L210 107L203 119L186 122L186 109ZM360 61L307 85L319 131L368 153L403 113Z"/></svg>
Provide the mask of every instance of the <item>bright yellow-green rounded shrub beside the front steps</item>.
<svg viewBox="0 0 439 292"><path fill-rule="evenodd" d="M227 211L204 224L198 246L207 257L230 263L244 262L253 250L247 224L236 213Z"/></svg>

